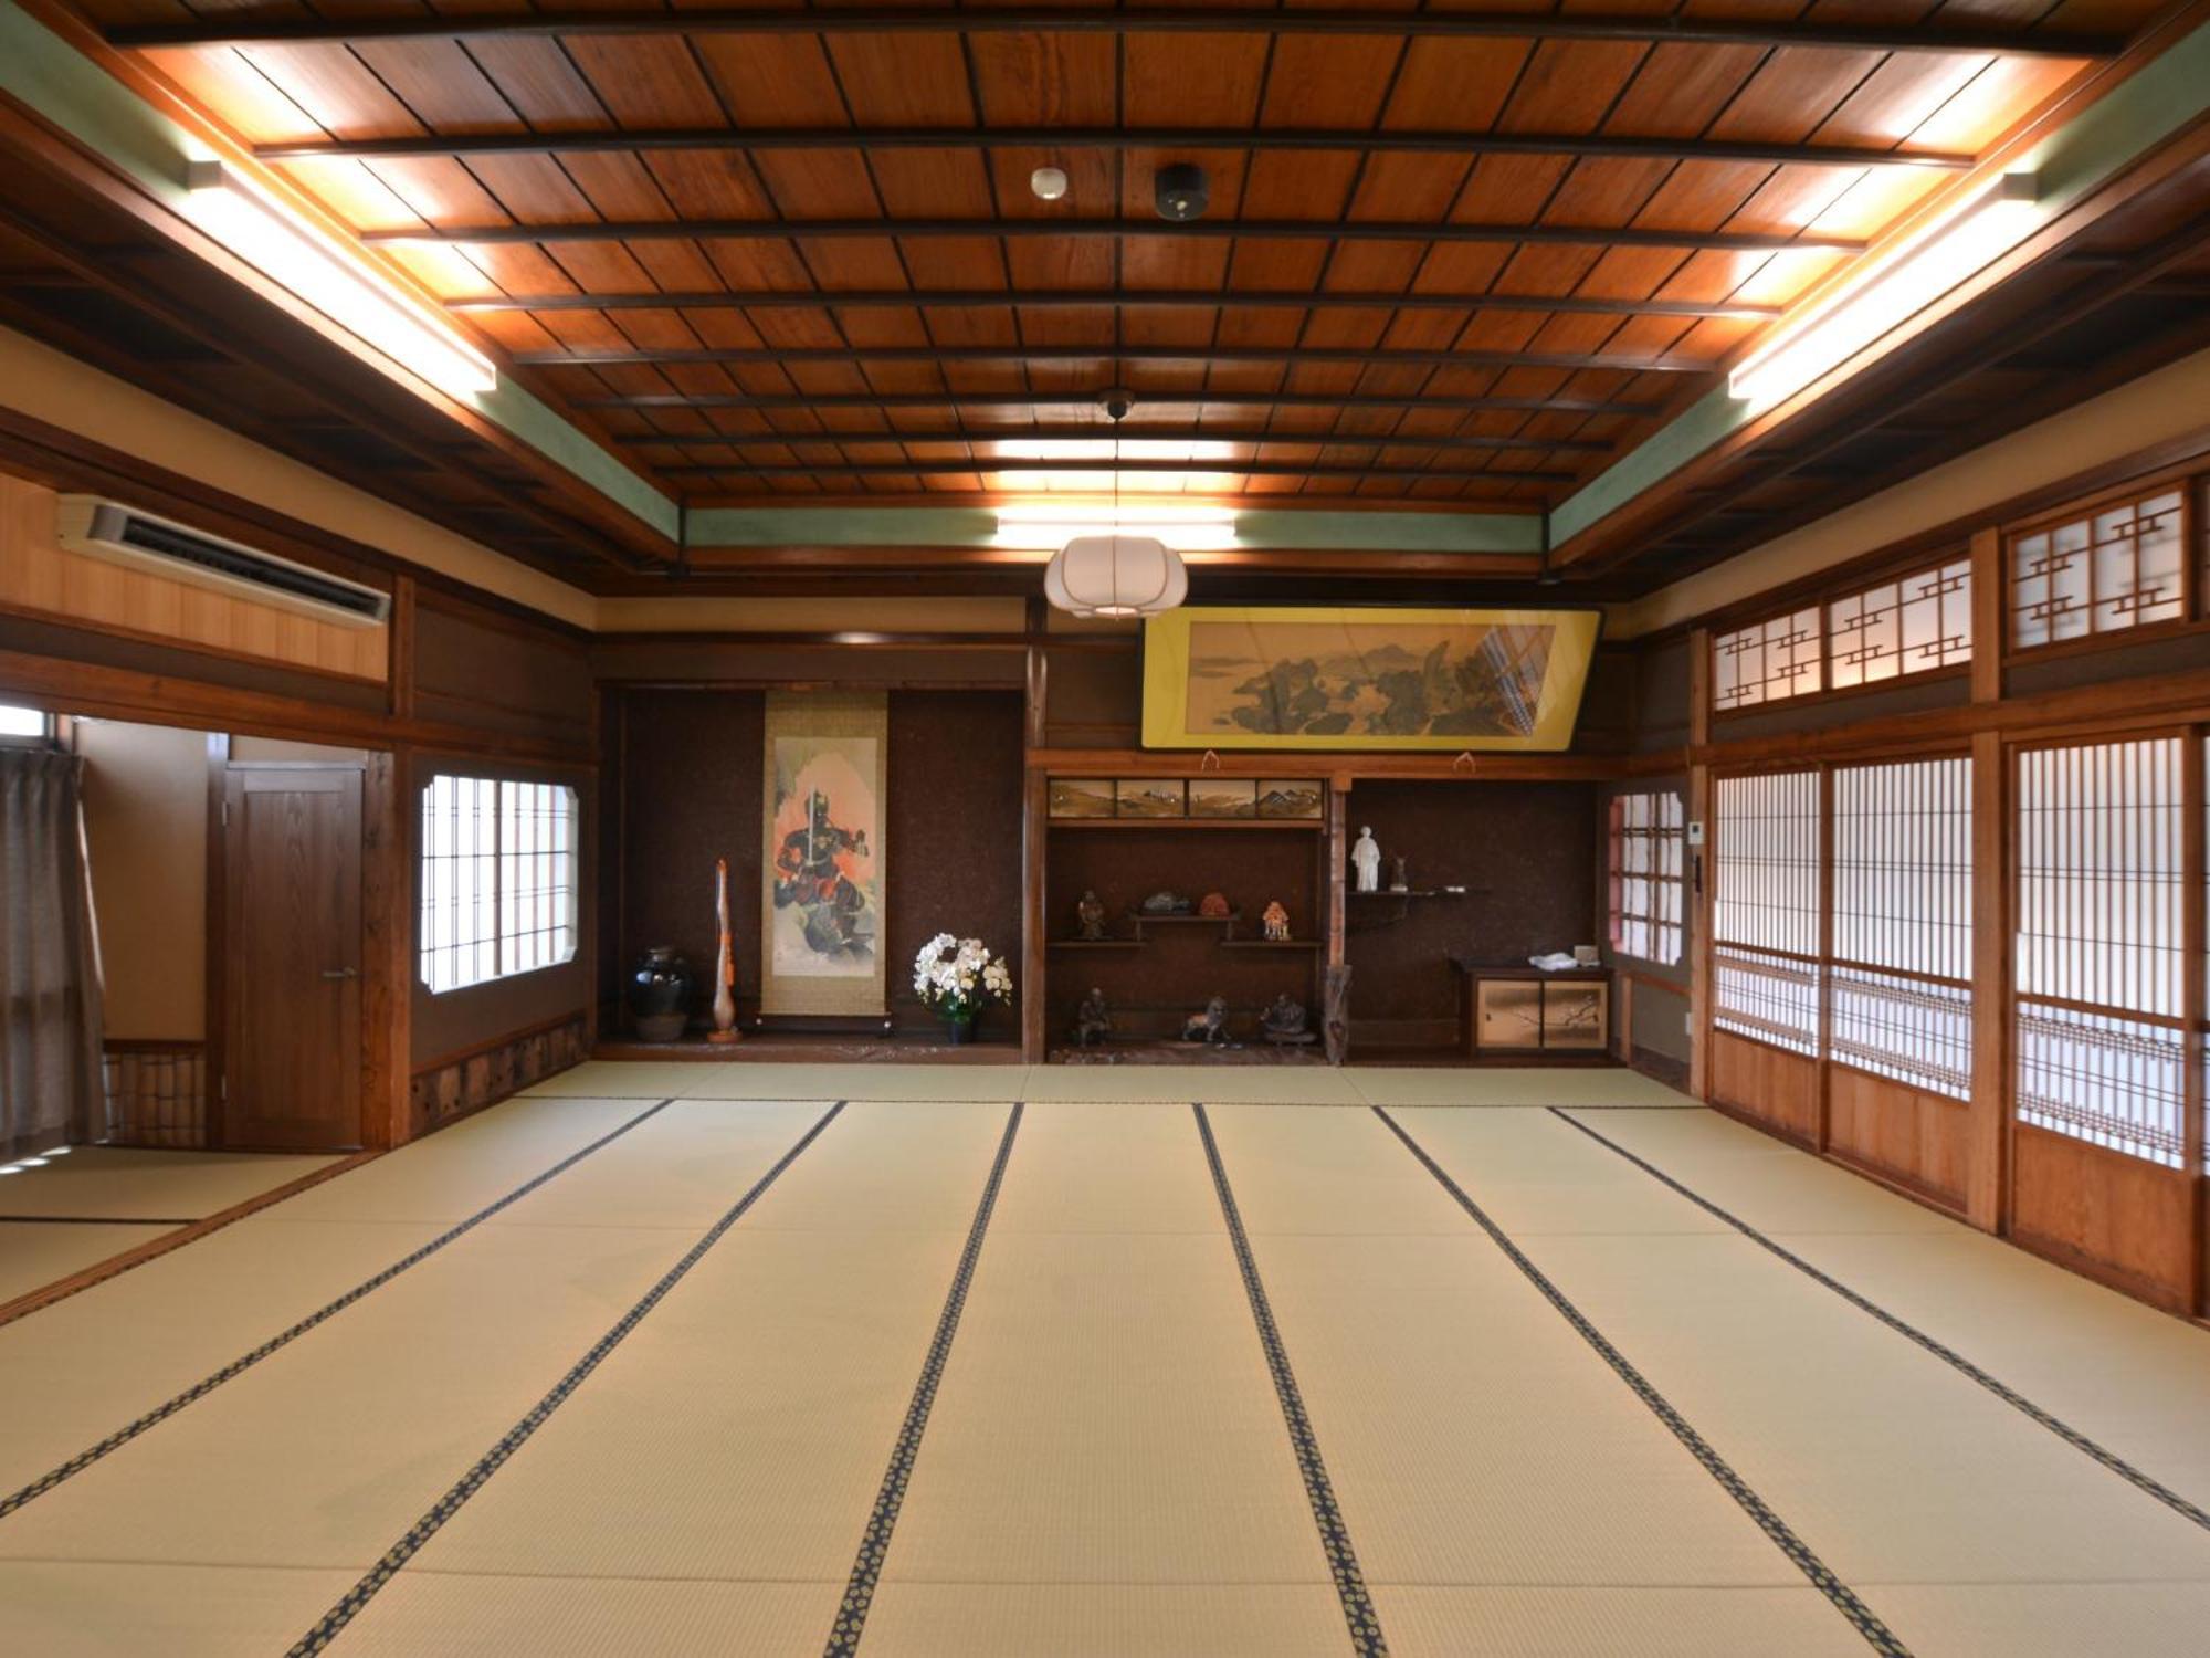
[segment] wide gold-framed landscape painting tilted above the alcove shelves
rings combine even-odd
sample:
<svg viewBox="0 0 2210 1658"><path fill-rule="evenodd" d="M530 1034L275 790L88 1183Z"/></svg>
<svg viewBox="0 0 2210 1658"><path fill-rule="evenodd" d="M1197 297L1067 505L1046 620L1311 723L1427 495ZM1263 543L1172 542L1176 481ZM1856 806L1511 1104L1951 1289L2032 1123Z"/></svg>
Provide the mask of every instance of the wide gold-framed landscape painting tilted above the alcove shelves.
<svg viewBox="0 0 2210 1658"><path fill-rule="evenodd" d="M1143 626L1151 749L1571 747L1596 610L1182 606Z"/></svg>

